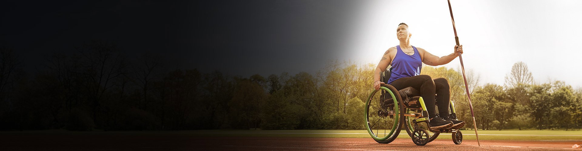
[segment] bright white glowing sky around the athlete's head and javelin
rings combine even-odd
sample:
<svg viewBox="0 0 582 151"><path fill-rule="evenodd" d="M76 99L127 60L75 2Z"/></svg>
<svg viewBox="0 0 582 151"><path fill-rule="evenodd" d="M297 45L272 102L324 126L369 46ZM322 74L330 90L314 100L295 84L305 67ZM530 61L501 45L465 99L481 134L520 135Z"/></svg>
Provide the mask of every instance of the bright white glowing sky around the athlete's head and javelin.
<svg viewBox="0 0 582 151"><path fill-rule="evenodd" d="M451 1L466 69L482 83L503 85L513 63L524 62L536 82L562 80L582 87L579 65L582 1ZM396 27L410 26L410 43L437 56L453 52L455 35L446 1L373 1L354 26L346 59L379 62L398 45ZM457 68L459 59L445 67Z"/></svg>

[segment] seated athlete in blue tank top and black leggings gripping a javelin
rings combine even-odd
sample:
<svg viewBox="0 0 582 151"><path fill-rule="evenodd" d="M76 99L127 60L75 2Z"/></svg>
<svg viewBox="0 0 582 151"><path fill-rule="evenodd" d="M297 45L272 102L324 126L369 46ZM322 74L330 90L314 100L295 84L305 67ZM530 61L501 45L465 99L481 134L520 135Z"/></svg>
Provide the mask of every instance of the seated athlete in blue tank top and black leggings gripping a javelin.
<svg viewBox="0 0 582 151"><path fill-rule="evenodd" d="M424 100L436 99L439 113L435 113L434 101L425 101L431 129L462 128L465 125L464 121L457 120L456 117L449 117L449 82L445 78L433 79L427 75L420 75L420 70L423 63L430 66L449 63L459 56L457 52L463 53L463 45L455 45L453 53L438 57L422 48L410 45L411 36L409 26L405 23L400 23L396 28L396 37L400 41L400 45L389 48L382 56L374 71L374 88L379 89L381 84L385 84L384 81L380 81L380 74L386 70L388 65L392 65L391 75L386 82L387 84L398 90L413 87L420 91ZM437 95L435 96L435 94Z"/></svg>

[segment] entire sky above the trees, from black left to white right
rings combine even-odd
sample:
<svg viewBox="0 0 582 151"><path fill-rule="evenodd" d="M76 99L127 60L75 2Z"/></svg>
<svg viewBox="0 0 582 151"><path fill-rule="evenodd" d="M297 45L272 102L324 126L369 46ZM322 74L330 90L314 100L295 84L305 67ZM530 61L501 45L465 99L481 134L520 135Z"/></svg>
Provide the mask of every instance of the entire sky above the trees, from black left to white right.
<svg viewBox="0 0 582 151"><path fill-rule="evenodd" d="M6 23L0 26L10 30L0 40L17 50L28 73L42 70L45 57L76 52L75 46L93 39L118 44L130 56L159 52L175 69L242 77L315 74L329 60L376 64L399 44L399 23L409 24L412 45L434 55L448 55L455 45L445 0L71 5L79 6L22 3L2 9ZM577 79L582 1L452 0L451 5L465 67L480 74L482 84L502 85L513 63L521 61L536 82L582 87ZM456 69L460 63L444 66Z"/></svg>

